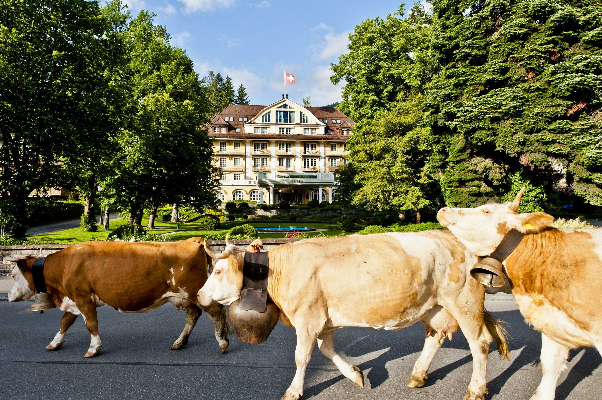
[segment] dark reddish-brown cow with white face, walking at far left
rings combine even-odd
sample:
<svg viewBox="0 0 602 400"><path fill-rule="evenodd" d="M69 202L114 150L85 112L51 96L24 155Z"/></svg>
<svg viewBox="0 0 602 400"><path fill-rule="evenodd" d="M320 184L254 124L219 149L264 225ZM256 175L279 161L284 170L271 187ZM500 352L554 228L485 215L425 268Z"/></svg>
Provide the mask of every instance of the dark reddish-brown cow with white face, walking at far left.
<svg viewBox="0 0 602 400"><path fill-rule="evenodd" d="M202 238L180 242L85 242L46 257L46 288L57 307L65 313L61 328L49 350L60 348L67 329L78 315L92 335L84 357L98 354L102 343L98 333L96 307L111 306L120 312L144 313L166 303L186 310L184 330L172 349L188 342L201 310L211 318L222 353L228 348L228 320L218 303L201 306L197 291L207 280L208 257ZM29 300L36 295L31 266L34 257L17 259L14 286L8 301ZM209 259L210 260L210 259Z"/></svg>

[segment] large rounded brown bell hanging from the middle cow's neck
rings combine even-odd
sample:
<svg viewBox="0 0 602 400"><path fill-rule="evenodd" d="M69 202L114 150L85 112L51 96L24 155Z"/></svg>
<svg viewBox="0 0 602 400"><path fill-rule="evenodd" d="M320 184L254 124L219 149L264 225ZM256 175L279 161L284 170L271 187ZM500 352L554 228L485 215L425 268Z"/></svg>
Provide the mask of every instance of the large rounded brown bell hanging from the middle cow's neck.
<svg viewBox="0 0 602 400"><path fill-rule="evenodd" d="M230 304L230 321L238 339L245 343L265 342L278 324L280 310L272 301L267 300L265 312L255 310L241 311L240 300Z"/></svg>

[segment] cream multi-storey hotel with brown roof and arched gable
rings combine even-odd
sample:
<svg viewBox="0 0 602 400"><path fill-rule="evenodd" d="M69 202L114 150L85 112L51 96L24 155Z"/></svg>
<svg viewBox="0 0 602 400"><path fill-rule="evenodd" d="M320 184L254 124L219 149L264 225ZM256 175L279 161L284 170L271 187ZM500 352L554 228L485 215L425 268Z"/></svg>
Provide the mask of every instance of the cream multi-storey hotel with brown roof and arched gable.
<svg viewBox="0 0 602 400"><path fill-rule="evenodd" d="M284 96L268 106L228 105L209 124L220 198L332 203L353 126L336 108L303 107Z"/></svg>

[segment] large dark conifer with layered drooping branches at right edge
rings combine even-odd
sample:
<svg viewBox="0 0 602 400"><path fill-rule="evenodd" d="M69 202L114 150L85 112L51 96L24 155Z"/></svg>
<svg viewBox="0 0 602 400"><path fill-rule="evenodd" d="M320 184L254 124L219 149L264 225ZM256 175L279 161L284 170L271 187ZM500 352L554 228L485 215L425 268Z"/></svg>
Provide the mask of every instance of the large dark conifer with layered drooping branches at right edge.
<svg viewBox="0 0 602 400"><path fill-rule="evenodd" d="M500 200L517 176L550 191L566 174L602 205L602 4L435 0L433 10L441 70L428 114L446 203Z"/></svg>

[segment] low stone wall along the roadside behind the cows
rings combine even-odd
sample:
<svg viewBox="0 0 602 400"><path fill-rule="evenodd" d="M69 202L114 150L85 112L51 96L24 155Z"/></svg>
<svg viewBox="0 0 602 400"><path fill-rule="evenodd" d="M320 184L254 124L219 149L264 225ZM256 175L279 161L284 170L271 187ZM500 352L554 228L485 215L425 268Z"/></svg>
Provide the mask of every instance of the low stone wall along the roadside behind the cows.
<svg viewBox="0 0 602 400"><path fill-rule="evenodd" d="M296 242L301 239L261 239L264 245L264 250L268 250L273 247L277 247L284 243ZM230 241L232 244L247 245L252 240L233 240ZM226 247L226 241L223 240L211 240L208 241L211 251L223 251ZM13 258L25 258L26 256L48 256L48 254L55 253L59 250L63 250L65 247L72 246L73 244L36 244L36 245L20 245L20 246L0 246L2 254ZM8 275L15 266L15 263L4 260L4 257L0 254L0 276Z"/></svg>

